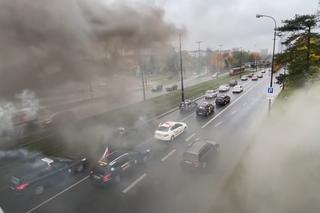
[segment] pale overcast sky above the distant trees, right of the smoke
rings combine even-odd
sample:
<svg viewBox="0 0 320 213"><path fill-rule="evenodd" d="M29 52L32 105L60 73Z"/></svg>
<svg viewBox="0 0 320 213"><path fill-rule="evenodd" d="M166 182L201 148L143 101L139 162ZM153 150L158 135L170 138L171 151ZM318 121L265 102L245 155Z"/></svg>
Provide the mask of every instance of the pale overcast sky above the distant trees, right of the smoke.
<svg viewBox="0 0 320 213"><path fill-rule="evenodd" d="M156 1L156 0L155 0ZM165 18L178 26L185 26L187 38L184 49L196 49L196 41L204 41L202 48L222 49L242 47L260 50L272 47L273 21L257 19L257 13L281 20L295 14L315 13L318 0L158 0L165 10ZM278 47L278 45L277 45Z"/></svg>

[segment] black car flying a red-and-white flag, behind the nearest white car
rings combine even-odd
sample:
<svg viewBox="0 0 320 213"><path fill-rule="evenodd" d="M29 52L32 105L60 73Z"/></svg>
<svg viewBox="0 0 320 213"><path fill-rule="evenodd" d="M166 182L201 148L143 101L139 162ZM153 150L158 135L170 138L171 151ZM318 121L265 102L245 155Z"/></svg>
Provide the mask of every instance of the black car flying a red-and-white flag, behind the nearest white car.
<svg viewBox="0 0 320 213"><path fill-rule="evenodd" d="M150 158L150 151L114 151L100 159L90 171L93 184L107 186L118 183Z"/></svg>

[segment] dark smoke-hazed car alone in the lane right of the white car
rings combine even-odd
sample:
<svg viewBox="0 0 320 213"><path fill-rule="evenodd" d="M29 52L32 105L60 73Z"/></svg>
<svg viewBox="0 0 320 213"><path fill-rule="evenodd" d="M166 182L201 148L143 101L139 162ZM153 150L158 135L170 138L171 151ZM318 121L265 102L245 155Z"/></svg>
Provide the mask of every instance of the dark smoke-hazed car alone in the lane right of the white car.
<svg viewBox="0 0 320 213"><path fill-rule="evenodd" d="M210 140L198 140L190 144L182 155L182 166L193 169L207 168L217 156L220 145Z"/></svg>

